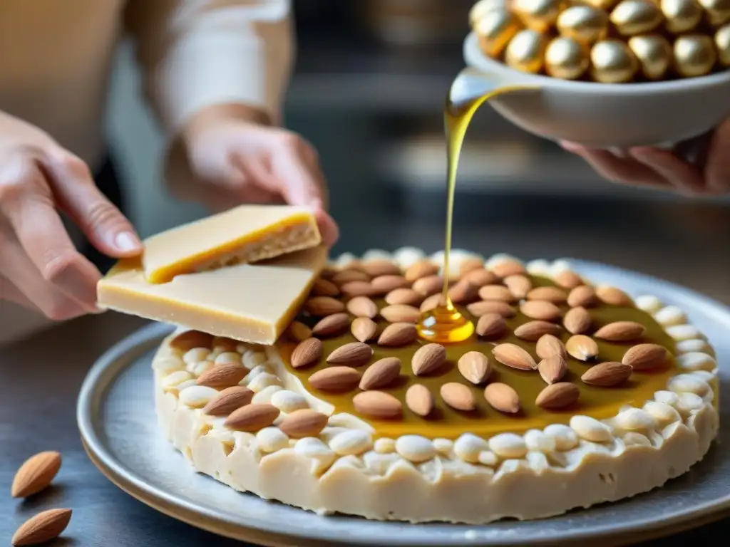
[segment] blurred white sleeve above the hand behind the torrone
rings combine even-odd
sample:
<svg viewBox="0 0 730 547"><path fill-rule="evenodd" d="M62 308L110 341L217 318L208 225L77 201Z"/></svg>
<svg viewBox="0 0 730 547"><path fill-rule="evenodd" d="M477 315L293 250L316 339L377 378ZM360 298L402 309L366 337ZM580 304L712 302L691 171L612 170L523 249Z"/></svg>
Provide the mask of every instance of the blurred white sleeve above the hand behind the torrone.
<svg viewBox="0 0 730 547"><path fill-rule="evenodd" d="M278 123L293 61L290 0L129 0L145 96L168 136L207 106Z"/></svg>

